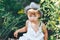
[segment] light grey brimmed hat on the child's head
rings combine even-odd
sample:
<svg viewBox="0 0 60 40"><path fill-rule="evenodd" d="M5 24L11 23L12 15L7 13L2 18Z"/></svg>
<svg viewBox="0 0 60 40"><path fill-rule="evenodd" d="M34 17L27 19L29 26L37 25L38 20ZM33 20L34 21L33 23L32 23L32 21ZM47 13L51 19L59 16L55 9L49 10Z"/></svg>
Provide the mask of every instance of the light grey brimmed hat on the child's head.
<svg viewBox="0 0 60 40"><path fill-rule="evenodd" d="M43 15L43 12L40 10L40 5L36 4L35 2L31 2L30 5L26 6L24 12L27 13L27 11L29 9L38 10L40 12L41 16Z"/></svg>

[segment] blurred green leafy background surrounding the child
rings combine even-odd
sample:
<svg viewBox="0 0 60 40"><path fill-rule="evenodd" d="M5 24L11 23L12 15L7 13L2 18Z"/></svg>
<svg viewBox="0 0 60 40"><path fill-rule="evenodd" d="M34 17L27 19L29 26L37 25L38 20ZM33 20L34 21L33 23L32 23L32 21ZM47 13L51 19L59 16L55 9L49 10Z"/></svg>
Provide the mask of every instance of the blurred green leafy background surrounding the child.
<svg viewBox="0 0 60 40"><path fill-rule="evenodd" d="M24 8L31 2L40 4L44 13L41 21L46 24L48 40L60 40L60 0L0 0L0 40L16 39L13 33L25 25ZM19 33L18 38L22 34Z"/></svg>

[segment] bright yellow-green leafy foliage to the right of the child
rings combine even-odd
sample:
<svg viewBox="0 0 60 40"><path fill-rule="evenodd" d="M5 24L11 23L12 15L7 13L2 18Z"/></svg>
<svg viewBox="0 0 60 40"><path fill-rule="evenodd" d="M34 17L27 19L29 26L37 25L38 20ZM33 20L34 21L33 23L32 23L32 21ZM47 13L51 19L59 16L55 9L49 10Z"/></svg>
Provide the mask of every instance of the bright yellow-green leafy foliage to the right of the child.
<svg viewBox="0 0 60 40"><path fill-rule="evenodd" d="M48 30L53 32L52 35L60 35L60 28L57 26L60 25L60 0L41 0L40 5L44 13L41 20L46 23Z"/></svg>

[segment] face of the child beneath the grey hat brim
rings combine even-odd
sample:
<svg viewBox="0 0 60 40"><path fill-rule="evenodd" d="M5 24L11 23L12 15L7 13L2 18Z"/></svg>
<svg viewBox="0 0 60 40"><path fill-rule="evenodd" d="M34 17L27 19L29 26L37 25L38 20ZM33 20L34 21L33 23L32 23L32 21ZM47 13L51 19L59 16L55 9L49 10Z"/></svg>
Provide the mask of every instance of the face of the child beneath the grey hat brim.
<svg viewBox="0 0 60 40"><path fill-rule="evenodd" d="M40 13L38 12L38 10L29 9L27 11L27 16L30 21L36 21L40 17Z"/></svg>

